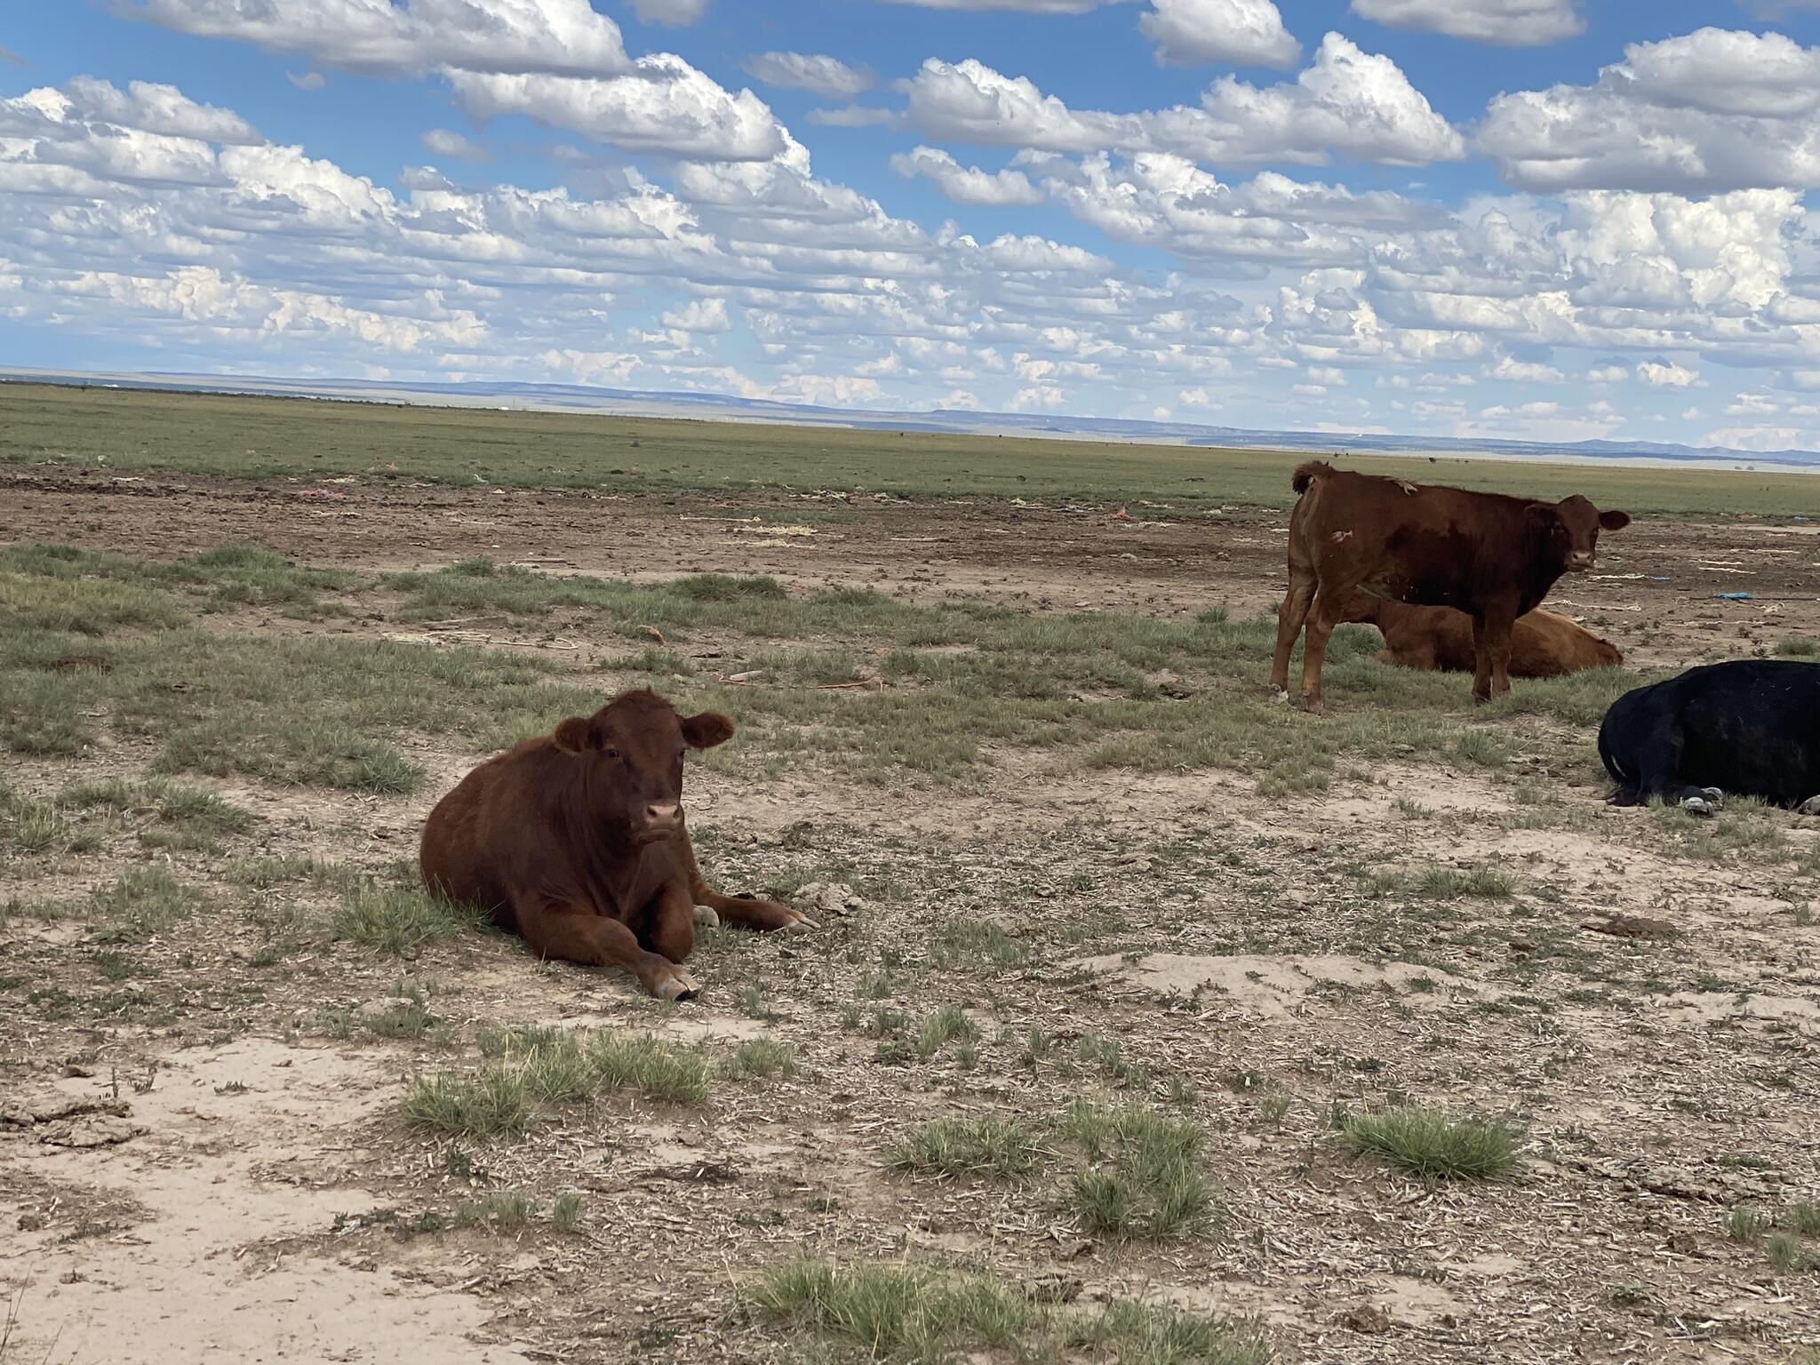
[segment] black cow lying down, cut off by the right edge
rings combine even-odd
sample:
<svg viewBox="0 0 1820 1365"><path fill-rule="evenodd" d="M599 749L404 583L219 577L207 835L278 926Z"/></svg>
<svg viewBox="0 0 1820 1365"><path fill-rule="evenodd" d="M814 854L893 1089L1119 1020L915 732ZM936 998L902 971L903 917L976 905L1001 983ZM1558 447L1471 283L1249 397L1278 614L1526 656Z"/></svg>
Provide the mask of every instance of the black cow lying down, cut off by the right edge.
<svg viewBox="0 0 1820 1365"><path fill-rule="evenodd" d="M1711 815L1729 792L1820 815L1820 664L1740 659L1627 692L1598 755L1618 806L1662 797Z"/></svg>

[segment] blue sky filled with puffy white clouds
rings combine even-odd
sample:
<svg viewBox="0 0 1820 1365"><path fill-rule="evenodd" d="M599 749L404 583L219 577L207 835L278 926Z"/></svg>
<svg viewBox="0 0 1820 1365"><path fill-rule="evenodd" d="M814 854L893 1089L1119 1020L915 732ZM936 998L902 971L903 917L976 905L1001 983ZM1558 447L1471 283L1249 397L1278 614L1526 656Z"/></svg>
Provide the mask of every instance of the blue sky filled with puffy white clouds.
<svg viewBox="0 0 1820 1365"><path fill-rule="evenodd" d="M56 0L0 364L1820 450L1820 0Z"/></svg>

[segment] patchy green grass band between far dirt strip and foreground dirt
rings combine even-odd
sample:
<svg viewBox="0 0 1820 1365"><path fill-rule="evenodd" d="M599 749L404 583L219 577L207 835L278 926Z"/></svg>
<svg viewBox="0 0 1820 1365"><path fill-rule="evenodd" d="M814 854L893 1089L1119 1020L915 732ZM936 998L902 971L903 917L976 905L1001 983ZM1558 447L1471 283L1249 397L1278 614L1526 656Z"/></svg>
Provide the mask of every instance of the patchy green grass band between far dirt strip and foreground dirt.
<svg viewBox="0 0 1820 1365"><path fill-rule="evenodd" d="M302 615L359 608L393 624L366 637L206 626L240 601ZM624 652L593 670L410 641L415 622L471 612L539 630L568 613ZM668 648L652 648L652 628ZM1598 670L1472 708L1463 679L1380 664L1372 632L1341 628L1329 653L1332 715L1307 717L1263 688L1272 642L1272 622L1218 610L1192 621L1028 615L983 599L788 592L761 577L632 584L484 561L360 577L242 548L140 564L15 546L0 550L0 688L11 701L0 746L76 755L111 730L151 743L160 775L410 792L422 777L415 744L499 748L652 684L737 715L744 737L732 750L775 770L837 752L861 781L970 786L1021 750L1065 770L1230 768L1270 795L1418 757L1500 768L1527 752L1592 777L1589 726L1636 681ZM713 673L692 657L699 646L713 648ZM724 673L750 681L730 686ZM1563 730L1578 743L1563 746Z"/></svg>

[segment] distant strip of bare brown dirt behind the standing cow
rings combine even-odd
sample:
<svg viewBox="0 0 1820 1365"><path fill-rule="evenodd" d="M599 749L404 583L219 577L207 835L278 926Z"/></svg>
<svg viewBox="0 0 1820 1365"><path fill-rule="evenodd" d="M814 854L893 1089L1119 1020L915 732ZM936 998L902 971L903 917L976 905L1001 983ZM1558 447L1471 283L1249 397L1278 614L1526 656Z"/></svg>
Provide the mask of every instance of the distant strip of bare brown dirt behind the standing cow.
<svg viewBox="0 0 1820 1365"><path fill-rule="evenodd" d="M1647 477L1647 475L1642 475ZM570 490L371 480L251 484L195 475L0 470L9 541L173 559L262 544L304 564L437 568L488 557L550 573L770 573L797 586L868 584L919 601L983 593L1036 608L1192 615L1274 612L1287 513L1178 517L1134 504L885 502L864 495L613 497ZM1820 524L1645 521L1607 535L1591 579L1549 606L1667 666L1820 622ZM1754 604L1716 593L1749 592ZM1802 601L1787 601L1802 599ZM1658 648L1660 637L1660 648Z"/></svg>

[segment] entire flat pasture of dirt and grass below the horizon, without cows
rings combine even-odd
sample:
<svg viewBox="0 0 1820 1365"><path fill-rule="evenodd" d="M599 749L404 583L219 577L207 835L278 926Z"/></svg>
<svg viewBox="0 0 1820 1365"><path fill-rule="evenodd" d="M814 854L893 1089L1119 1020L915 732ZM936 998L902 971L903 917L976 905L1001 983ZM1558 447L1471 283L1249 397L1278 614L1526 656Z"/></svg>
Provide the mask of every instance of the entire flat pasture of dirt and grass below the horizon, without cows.
<svg viewBox="0 0 1820 1365"><path fill-rule="evenodd" d="M1820 821L1592 737L1820 486L1387 462L1638 513L1625 668L1309 717L1298 459L0 386L0 1361L1811 1365ZM413 868L628 686L819 923L682 1005Z"/></svg>

